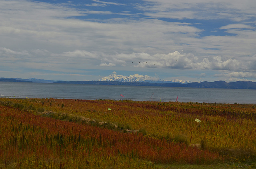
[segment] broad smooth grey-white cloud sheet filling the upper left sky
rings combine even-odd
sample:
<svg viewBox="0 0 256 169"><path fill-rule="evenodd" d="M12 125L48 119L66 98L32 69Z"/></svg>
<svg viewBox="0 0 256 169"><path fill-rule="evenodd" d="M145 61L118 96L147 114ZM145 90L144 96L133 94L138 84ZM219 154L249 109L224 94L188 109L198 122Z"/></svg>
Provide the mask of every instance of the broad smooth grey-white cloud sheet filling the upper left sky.
<svg viewBox="0 0 256 169"><path fill-rule="evenodd" d="M197 36L197 33L202 31L188 24L160 20L123 18L104 20L106 23L77 20L72 17L112 12L95 10L83 12L46 3L24 1L18 8L18 4L9 2L1 7L0 35L6 37L7 41L0 43L0 46L9 44L8 48L18 48L22 43L27 50L40 49L44 46L48 51L72 49L97 51L100 46L100 50L104 52L120 52L131 51L147 44L154 46L152 49L161 51L167 48L166 44L174 45L174 39L184 36L185 33L189 36Z"/></svg>

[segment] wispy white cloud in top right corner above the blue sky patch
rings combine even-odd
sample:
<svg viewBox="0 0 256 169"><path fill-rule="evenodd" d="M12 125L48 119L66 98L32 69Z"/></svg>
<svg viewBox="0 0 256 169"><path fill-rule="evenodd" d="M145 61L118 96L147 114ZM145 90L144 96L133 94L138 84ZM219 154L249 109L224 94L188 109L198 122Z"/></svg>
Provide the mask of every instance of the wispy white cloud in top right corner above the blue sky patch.
<svg viewBox="0 0 256 169"><path fill-rule="evenodd" d="M146 15L170 18L170 15L160 15L173 12L171 18L182 19L223 19L242 21L253 17L256 3L252 0L145 0L147 4L138 6L146 11ZM188 15L190 11L191 15ZM202 15L203 13L203 15Z"/></svg>

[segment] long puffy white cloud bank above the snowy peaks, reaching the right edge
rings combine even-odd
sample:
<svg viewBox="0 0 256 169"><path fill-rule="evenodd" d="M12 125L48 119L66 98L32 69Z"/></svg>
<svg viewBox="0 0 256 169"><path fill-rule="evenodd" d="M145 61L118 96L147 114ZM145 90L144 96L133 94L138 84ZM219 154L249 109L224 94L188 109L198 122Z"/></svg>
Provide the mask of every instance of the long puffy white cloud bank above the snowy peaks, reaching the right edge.
<svg viewBox="0 0 256 169"><path fill-rule="evenodd" d="M149 53L117 53L115 55L108 55L104 53L90 53L88 51L73 51L62 54L66 57L84 57L87 59L100 60L100 66L128 66L138 68L167 68L167 69L214 69L214 70L247 70L252 68L252 64L248 60L238 61L237 59L224 59L220 56L212 56L201 58L194 56L191 53L184 53L183 51L174 51L168 54Z"/></svg>

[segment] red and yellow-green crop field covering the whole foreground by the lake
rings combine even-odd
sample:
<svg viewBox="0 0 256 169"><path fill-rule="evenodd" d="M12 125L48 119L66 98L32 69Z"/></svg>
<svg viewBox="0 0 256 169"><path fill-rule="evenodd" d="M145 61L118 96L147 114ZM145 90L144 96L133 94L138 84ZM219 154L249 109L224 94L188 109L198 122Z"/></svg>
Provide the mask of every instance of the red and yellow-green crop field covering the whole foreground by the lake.
<svg viewBox="0 0 256 169"><path fill-rule="evenodd" d="M254 105L53 98L0 104L0 168L31 161L37 168L255 167Z"/></svg>

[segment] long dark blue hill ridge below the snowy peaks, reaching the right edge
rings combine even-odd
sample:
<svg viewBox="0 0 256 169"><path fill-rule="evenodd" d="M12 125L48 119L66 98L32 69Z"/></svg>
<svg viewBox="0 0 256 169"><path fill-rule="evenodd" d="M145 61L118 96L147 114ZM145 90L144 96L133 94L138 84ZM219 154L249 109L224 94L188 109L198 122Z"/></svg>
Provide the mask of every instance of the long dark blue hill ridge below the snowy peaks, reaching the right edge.
<svg viewBox="0 0 256 169"><path fill-rule="evenodd" d="M195 82L195 83L148 83L148 82L118 82L118 81L58 81L54 83L87 84L87 85L132 85L132 86L166 86L166 87L192 87L192 88L234 88L256 89L256 82Z"/></svg>

